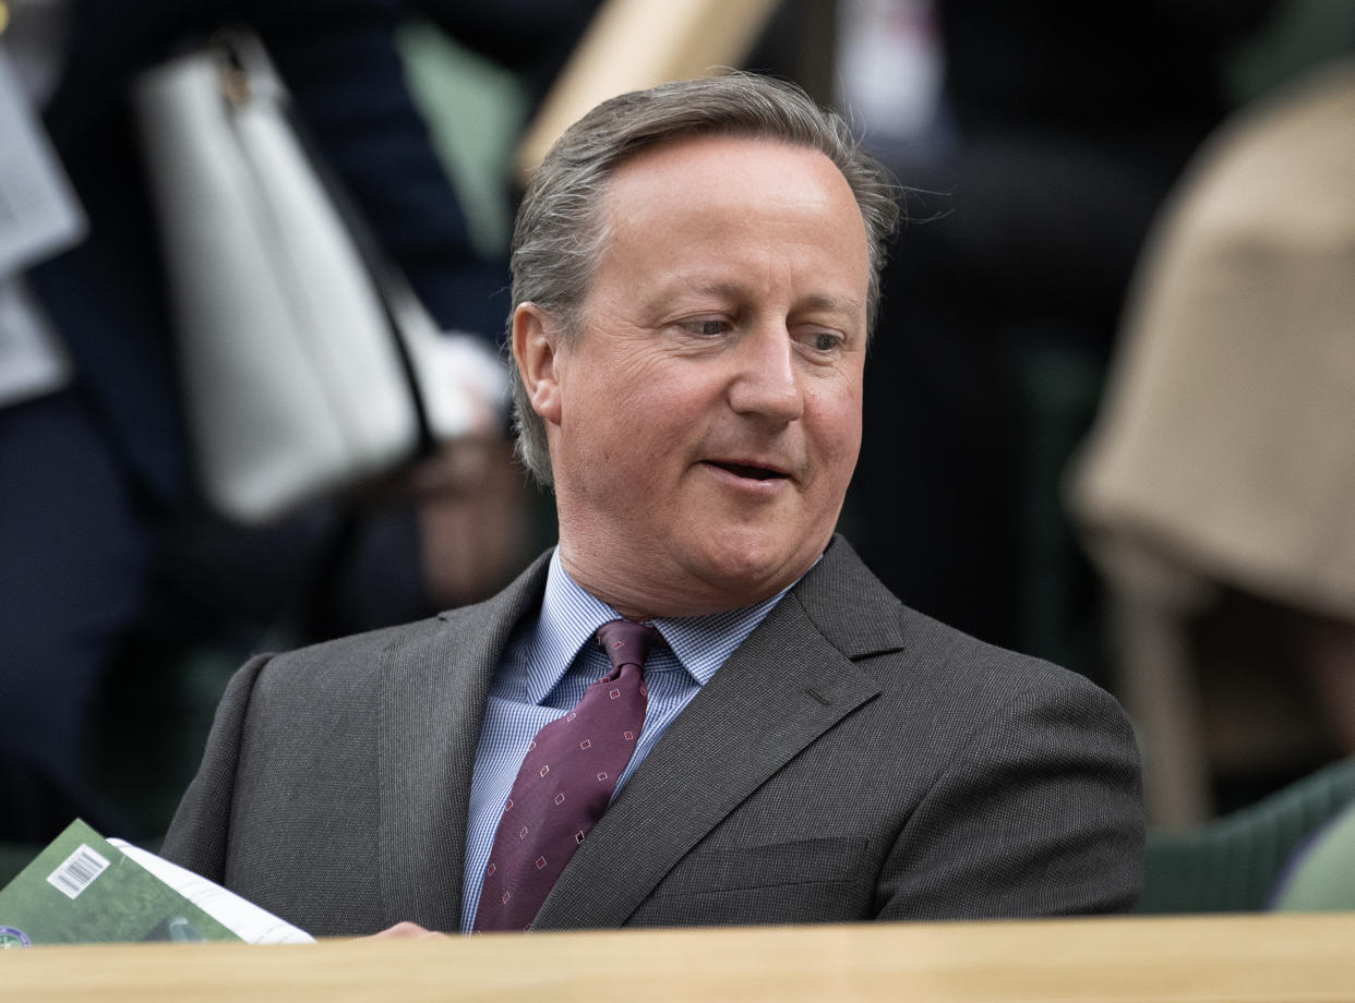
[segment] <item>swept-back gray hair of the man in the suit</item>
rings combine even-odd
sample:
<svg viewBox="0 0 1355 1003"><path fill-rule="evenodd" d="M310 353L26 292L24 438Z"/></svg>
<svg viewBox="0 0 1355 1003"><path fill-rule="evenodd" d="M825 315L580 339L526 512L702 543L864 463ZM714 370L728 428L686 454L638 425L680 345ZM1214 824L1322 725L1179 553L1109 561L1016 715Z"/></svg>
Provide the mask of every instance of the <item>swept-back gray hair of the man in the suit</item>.
<svg viewBox="0 0 1355 1003"><path fill-rule="evenodd" d="M794 84L743 72L625 93L565 130L537 168L518 208L511 259L514 311L522 303L535 303L558 319L561 337L576 337L608 237L600 206L611 176L641 150L692 135L778 139L818 150L841 171L866 223L866 319L867 329L874 328L879 272L900 217L897 183L862 149L841 116L820 108ZM518 367L509 370L518 456L538 482L550 485L546 425L531 407Z"/></svg>

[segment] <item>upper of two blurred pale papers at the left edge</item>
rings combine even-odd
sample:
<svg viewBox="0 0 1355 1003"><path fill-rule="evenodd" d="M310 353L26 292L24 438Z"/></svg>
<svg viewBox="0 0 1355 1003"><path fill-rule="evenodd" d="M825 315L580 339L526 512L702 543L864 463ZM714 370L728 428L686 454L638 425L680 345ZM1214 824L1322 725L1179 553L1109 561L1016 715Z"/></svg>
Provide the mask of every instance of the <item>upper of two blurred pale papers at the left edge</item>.
<svg viewBox="0 0 1355 1003"><path fill-rule="evenodd" d="M0 279L80 242L85 217L0 49Z"/></svg>

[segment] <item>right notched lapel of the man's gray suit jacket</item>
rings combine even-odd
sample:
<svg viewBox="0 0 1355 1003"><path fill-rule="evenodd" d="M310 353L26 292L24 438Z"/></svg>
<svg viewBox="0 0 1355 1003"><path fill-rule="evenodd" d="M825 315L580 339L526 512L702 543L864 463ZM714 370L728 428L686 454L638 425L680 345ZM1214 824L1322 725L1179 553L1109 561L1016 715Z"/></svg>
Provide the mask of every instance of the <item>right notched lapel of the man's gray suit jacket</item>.
<svg viewBox="0 0 1355 1003"><path fill-rule="evenodd" d="M672 723L565 868L534 929L621 926L753 790L878 694L854 659L901 647L897 609L836 540Z"/></svg>

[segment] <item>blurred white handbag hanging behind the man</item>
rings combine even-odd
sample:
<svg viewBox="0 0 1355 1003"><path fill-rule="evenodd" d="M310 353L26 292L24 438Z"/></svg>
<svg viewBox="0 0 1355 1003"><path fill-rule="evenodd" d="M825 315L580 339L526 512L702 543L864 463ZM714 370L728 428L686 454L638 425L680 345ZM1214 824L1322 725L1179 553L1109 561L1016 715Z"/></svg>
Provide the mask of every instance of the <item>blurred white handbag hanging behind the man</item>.
<svg viewBox="0 0 1355 1003"><path fill-rule="evenodd" d="M312 158L257 38L217 34L134 100L206 501L264 522L463 432L470 402L421 376L436 324Z"/></svg>

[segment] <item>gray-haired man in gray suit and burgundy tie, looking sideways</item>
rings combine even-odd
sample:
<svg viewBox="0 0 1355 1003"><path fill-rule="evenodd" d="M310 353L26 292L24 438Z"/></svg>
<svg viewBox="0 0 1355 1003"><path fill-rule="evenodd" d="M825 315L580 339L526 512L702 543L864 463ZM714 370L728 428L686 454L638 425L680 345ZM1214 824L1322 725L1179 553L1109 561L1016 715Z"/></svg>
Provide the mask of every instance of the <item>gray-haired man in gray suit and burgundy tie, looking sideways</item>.
<svg viewBox="0 0 1355 1003"><path fill-rule="evenodd" d="M896 213L846 126L764 79L575 125L514 242L519 444L560 545L489 602L247 665L167 855L320 935L520 927L492 914L554 854L499 873L539 831L519 784L626 617L661 635L644 727L531 929L1131 907L1115 701L908 610L833 537Z"/></svg>

